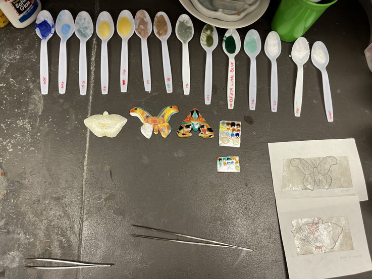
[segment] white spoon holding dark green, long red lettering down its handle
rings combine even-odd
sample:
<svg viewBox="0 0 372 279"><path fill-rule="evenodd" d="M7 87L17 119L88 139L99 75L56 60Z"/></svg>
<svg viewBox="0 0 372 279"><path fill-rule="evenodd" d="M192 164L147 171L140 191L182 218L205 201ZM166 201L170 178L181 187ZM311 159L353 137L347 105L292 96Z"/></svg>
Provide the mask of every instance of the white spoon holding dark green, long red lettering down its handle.
<svg viewBox="0 0 372 279"><path fill-rule="evenodd" d="M234 108L235 103L235 55L240 51L241 42L236 29L228 29L222 42L222 48L229 57L227 75L227 107Z"/></svg>

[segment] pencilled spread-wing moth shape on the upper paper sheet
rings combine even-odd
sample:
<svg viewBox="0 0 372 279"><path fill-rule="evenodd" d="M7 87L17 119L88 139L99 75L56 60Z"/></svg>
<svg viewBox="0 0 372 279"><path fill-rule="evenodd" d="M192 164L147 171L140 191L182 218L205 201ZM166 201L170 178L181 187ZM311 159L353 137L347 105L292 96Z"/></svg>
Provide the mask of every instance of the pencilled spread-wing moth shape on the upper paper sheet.
<svg viewBox="0 0 372 279"><path fill-rule="evenodd" d="M329 189L332 184L332 177L328 174L331 166L337 164L337 159L333 156L324 157L320 163L316 164L313 160L309 162L301 158L291 159L291 165L305 175L303 185L313 191L315 186L322 186Z"/></svg>

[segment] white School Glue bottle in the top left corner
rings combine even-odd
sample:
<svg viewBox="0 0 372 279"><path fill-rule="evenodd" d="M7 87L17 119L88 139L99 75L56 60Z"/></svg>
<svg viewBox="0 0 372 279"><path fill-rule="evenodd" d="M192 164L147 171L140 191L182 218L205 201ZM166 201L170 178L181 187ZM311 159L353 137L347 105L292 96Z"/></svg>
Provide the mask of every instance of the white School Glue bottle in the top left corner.
<svg viewBox="0 0 372 279"><path fill-rule="evenodd" d="M0 0L0 9L16 28L24 28L36 20L40 0Z"/></svg>

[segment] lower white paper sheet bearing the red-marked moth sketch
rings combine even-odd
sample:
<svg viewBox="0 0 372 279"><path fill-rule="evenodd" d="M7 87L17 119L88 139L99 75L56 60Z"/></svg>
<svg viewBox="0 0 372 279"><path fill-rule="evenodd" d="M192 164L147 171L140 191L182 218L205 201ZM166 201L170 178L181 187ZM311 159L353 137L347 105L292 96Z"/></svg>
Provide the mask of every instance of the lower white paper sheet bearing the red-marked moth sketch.
<svg viewBox="0 0 372 279"><path fill-rule="evenodd" d="M372 269L357 196L277 199L277 209L291 279Z"/></svg>

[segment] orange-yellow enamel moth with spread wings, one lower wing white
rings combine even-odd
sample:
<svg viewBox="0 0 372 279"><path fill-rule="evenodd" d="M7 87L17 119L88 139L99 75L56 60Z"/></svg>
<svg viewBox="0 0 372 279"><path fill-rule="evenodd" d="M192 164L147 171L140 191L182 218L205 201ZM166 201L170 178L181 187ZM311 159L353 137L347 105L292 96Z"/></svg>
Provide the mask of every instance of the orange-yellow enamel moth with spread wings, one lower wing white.
<svg viewBox="0 0 372 279"><path fill-rule="evenodd" d="M162 109L158 116L151 116L146 110L141 107L133 107L130 110L130 115L138 117L139 120L143 123L141 126L142 135L146 138L151 138L152 130L154 134L160 131L160 134L163 138L166 138L172 131L171 125L168 121L171 119L171 116L178 113L178 107L175 105L166 106Z"/></svg>

